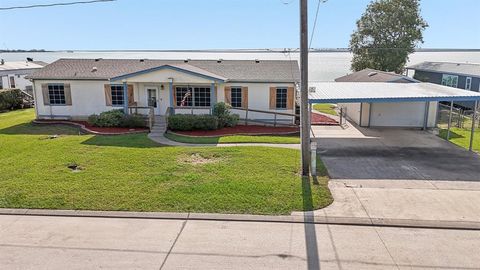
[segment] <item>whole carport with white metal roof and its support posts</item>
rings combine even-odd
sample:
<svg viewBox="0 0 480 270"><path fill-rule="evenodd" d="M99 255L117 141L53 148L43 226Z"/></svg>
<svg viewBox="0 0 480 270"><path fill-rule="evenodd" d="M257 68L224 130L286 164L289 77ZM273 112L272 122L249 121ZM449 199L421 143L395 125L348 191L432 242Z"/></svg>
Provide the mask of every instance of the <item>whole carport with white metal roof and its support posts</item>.
<svg viewBox="0 0 480 270"><path fill-rule="evenodd" d="M309 108L311 110L312 104L316 103L359 103L370 104L369 111L360 109L359 118L360 125L362 123L362 116L368 117L368 122L372 119L372 104L391 104L402 106L402 104L423 104L421 117L423 119L423 129L429 127L429 119L435 117L429 115L431 113L431 104L438 102L450 102L453 108L453 102L464 101L474 102L477 107L480 100L480 93L461 90L453 87L431 83L364 83L364 82L323 82L309 84ZM410 108L405 108L410 113L411 117L419 117L412 114ZM436 110L435 110L436 112ZM398 112L393 112L398 113ZM476 111L474 112L476 113ZM366 114L366 115L365 115ZM475 119L475 114L474 114ZM450 137L450 126L452 119L452 111L450 111L448 121L447 140ZM370 126L370 123L369 123ZM472 121L471 137L470 137L470 151L472 150L472 143L475 131L475 124Z"/></svg>

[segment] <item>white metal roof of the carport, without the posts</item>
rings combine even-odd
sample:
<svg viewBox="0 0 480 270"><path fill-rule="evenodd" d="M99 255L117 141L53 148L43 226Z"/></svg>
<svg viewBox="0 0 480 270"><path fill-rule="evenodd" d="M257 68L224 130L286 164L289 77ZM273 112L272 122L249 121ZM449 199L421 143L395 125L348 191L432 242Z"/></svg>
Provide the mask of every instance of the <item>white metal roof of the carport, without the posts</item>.
<svg viewBox="0 0 480 270"><path fill-rule="evenodd" d="M479 101L480 93L432 83L309 83L309 103Z"/></svg>

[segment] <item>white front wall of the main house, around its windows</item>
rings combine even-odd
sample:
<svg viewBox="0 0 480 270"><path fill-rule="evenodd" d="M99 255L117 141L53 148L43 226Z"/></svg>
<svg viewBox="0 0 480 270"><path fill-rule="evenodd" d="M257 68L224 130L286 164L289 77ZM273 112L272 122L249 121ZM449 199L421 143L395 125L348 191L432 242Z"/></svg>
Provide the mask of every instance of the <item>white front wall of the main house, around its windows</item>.
<svg viewBox="0 0 480 270"><path fill-rule="evenodd" d="M172 73L164 74L165 72L155 72L157 75L166 77L166 79L172 77ZM162 74L163 73L163 74ZM178 72L177 72L178 73ZM134 101L139 107L147 107L147 87L157 88L157 109L156 114L164 115L167 108L170 107L170 83L165 82L142 82L142 80L161 79L159 76L151 75L150 77L141 78L134 77L127 80L128 84L133 85L134 89ZM211 81L203 80L200 78L197 82L192 81L193 78L184 76L180 78L178 74L173 74L174 85L185 85L188 80L189 85L208 85L211 86ZM167 77L169 76L169 77ZM44 105L42 87L44 83L68 83L71 88L72 105ZM121 83L121 82L117 82ZM35 80L35 99L36 99L36 111L37 118L71 118L71 119L86 119L91 114L99 114L104 111L112 109L121 109L121 106L107 106L105 101L104 85L110 84L109 81L82 81L82 80ZM248 107L250 109L265 110L265 111L277 111L281 113L294 113L293 110L270 110L270 87L294 87L293 83L286 84L270 84L270 83L238 83L238 84L226 84L228 86L246 86L248 87ZM216 85L216 93L214 95L216 99L212 98L212 104L215 102L225 101L225 84ZM294 102L295 96L293 98ZM295 107L295 106L294 106ZM179 114L209 114L210 108L176 108L175 113ZM140 112L140 111L139 111ZM233 110L234 113L240 115L241 118L245 117L245 112L240 110ZM249 119L257 120L273 120L274 116L271 114L254 113L249 112ZM292 116L277 116L277 120L292 123L294 117Z"/></svg>

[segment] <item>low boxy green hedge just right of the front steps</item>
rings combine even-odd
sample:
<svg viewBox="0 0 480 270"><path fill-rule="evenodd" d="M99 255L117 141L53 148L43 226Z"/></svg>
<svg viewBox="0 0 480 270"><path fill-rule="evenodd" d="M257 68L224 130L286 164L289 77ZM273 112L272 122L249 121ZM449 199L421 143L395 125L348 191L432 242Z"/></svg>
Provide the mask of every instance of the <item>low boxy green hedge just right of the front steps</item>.
<svg viewBox="0 0 480 270"><path fill-rule="evenodd" d="M214 115L176 114L168 117L171 130L214 130L218 128L218 118Z"/></svg>

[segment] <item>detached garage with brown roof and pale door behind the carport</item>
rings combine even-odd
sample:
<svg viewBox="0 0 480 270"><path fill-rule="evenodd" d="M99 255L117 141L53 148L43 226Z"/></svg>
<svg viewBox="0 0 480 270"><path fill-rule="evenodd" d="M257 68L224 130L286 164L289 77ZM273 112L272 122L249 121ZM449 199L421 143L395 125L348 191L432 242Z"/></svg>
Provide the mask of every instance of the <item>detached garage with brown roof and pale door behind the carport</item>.
<svg viewBox="0 0 480 270"><path fill-rule="evenodd" d="M373 69L364 69L347 76L335 79L336 82L351 82L349 86L338 84L338 87L351 89L357 87L371 91L388 92L394 88L391 84L415 84L419 81L410 77L390 72ZM354 84L357 83L357 84ZM378 83L378 84L365 84ZM407 87L407 86L401 86ZM398 89L398 85L395 85ZM423 88L416 88L421 90ZM368 90L368 89L367 89ZM375 93L372 93L374 96ZM428 117L427 127L434 127L436 124L437 102L392 102L392 103L340 103L339 107L344 108L347 117L362 127L424 127L425 115Z"/></svg>

